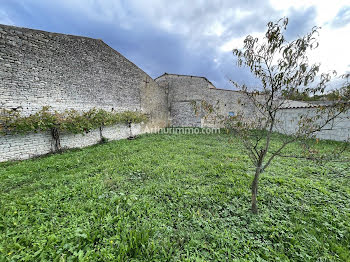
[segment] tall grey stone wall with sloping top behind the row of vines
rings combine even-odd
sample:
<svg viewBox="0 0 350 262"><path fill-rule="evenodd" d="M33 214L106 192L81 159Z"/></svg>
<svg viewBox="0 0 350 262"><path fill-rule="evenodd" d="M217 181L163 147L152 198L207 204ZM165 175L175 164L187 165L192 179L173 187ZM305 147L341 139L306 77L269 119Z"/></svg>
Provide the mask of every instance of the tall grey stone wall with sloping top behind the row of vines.
<svg viewBox="0 0 350 262"><path fill-rule="evenodd" d="M24 115L43 106L58 111L131 110L150 116L141 133L145 127L167 125L166 90L102 40L0 25L0 80L0 109ZM124 131L115 132L111 139L125 137L118 135ZM99 135L93 134L68 135L62 143L94 144ZM2 136L0 161L47 153L49 140L46 134Z"/></svg>

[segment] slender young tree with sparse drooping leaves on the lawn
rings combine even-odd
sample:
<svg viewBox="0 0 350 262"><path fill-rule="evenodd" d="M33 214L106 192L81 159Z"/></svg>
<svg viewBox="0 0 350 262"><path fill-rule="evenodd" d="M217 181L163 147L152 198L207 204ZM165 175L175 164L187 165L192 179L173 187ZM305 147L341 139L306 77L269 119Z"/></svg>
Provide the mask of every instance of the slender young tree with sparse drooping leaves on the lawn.
<svg viewBox="0 0 350 262"><path fill-rule="evenodd" d="M243 141L255 167L251 185L253 213L258 212L260 175L275 157L281 156L288 144L314 137L318 131L332 128L334 119L349 108L348 101L342 99L313 109L309 114L300 116L295 132L286 137L278 148L271 146L273 132L279 130L281 112L290 103L288 94L293 95L296 90L323 94L327 83L336 74L319 74L320 64L309 63L309 51L318 47L319 28L314 27L305 36L288 42L284 36L287 25L287 18L276 23L269 22L262 41L249 35L244 40L242 50L233 50L238 66L248 67L261 83L259 87L249 88L245 84L231 81L247 95L255 110L250 117L242 114L225 120L226 126Z"/></svg>

